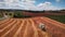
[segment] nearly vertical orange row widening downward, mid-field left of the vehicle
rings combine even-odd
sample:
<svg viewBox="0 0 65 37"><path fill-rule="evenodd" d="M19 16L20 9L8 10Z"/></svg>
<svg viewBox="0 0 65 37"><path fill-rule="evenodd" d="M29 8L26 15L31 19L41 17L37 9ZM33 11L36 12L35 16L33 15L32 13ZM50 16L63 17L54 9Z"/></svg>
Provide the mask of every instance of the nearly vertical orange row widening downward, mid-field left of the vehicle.
<svg viewBox="0 0 65 37"><path fill-rule="evenodd" d="M27 20L27 25L26 25L23 37L32 37L32 34L34 34L34 30L31 28L31 24L29 23L29 20Z"/></svg>

